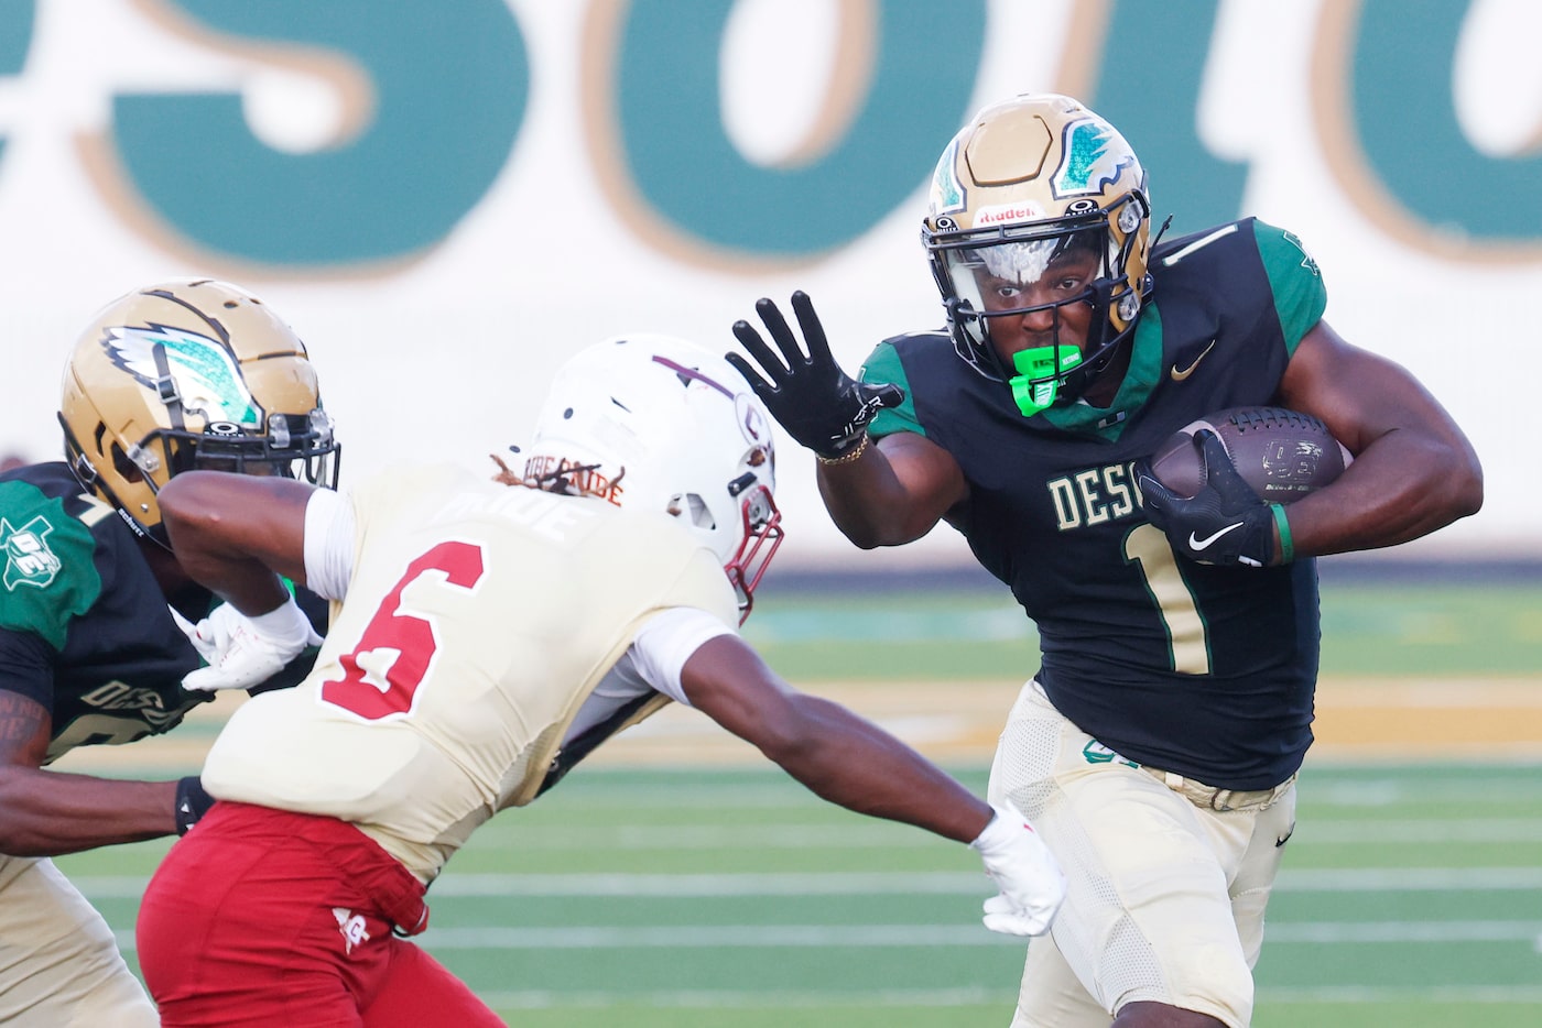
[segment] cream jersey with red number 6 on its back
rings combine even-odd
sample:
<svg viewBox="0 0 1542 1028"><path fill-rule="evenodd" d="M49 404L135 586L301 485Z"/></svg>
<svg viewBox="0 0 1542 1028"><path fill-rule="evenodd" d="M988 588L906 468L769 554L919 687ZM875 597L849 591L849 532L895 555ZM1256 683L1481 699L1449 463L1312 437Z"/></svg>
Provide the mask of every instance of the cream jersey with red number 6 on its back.
<svg viewBox="0 0 1542 1028"><path fill-rule="evenodd" d="M315 670L244 703L202 778L222 800L352 821L424 882L478 825L535 798L649 618L739 621L715 555L665 513L453 467L348 501L352 576ZM663 703L648 694L626 723Z"/></svg>

